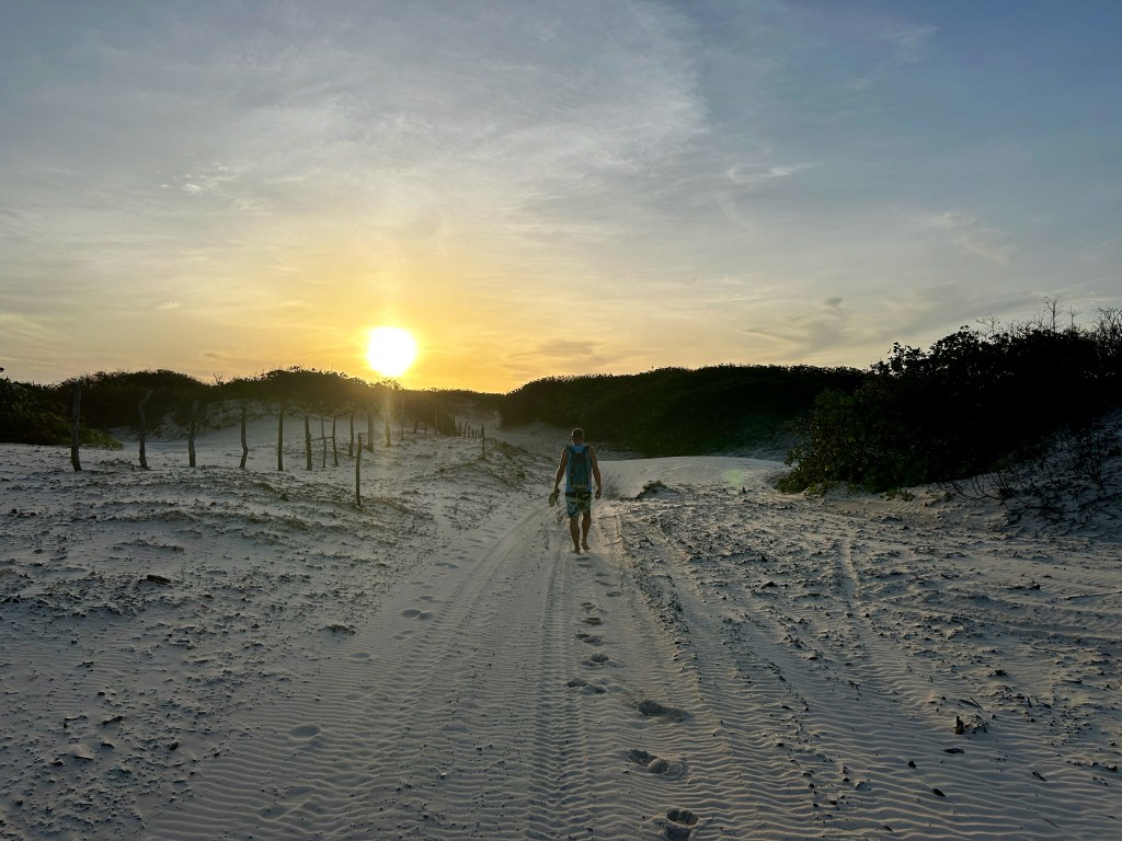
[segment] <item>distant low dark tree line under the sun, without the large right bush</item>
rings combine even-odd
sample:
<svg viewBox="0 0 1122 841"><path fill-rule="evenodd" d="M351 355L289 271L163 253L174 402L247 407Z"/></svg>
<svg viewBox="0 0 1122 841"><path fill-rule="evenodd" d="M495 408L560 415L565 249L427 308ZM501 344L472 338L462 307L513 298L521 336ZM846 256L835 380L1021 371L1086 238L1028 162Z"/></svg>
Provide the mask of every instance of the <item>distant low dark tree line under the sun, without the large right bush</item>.
<svg viewBox="0 0 1122 841"><path fill-rule="evenodd" d="M504 426L535 420L586 426L598 441L644 455L684 455L752 445L783 434L824 389L849 390L866 375L850 368L716 366L665 368L638 375L554 377L509 394L405 390L332 371L287 368L252 378L202 382L168 370L98 372L54 386L0 380L0 438L70 441L71 395L82 388L83 443L111 441L113 429L138 429L141 410L154 426L177 429L233 423L241 407L288 414L348 416L380 410L445 435L465 434L457 406L496 413ZM144 400L144 406L140 406ZM18 409L18 410L16 410Z"/></svg>

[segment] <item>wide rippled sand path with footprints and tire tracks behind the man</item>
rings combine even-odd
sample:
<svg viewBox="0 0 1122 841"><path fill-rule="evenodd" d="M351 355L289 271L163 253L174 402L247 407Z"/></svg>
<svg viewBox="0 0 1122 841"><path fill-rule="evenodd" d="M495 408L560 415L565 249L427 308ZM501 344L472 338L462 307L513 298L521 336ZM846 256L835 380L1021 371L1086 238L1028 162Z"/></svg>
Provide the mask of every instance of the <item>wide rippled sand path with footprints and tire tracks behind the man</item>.
<svg viewBox="0 0 1122 841"><path fill-rule="evenodd" d="M303 692L245 710L243 736L146 834L656 837L718 722L682 712L671 631L618 556L561 537L536 500L460 535Z"/></svg>

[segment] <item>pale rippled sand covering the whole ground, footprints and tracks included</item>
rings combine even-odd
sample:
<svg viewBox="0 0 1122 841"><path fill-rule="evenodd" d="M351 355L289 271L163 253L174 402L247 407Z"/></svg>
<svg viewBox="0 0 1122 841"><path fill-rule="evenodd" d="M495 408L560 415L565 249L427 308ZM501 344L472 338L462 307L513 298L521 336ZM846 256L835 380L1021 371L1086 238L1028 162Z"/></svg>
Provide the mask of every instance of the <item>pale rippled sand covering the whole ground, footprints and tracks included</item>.
<svg viewBox="0 0 1122 841"><path fill-rule="evenodd" d="M1110 523L606 460L576 556L558 436L395 434L359 511L297 426L0 445L0 837L1122 838Z"/></svg>

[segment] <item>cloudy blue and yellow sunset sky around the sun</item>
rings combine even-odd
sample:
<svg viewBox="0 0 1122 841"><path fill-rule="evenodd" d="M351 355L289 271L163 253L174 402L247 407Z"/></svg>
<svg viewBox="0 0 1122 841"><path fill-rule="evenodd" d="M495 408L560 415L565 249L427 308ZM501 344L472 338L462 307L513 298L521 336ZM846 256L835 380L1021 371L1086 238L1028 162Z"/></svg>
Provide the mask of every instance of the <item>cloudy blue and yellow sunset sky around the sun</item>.
<svg viewBox="0 0 1122 841"><path fill-rule="evenodd" d="M1114 0L0 0L0 367L509 391L1122 306Z"/></svg>

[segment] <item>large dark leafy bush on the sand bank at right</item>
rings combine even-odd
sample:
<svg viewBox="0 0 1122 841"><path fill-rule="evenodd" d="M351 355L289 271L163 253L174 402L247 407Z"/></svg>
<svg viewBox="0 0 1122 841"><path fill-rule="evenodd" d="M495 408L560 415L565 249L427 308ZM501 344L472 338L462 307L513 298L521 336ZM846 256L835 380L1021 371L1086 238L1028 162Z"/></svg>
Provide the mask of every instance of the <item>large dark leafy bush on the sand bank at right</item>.
<svg viewBox="0 0 1122 841"><path fill-rule="evenodd" d="M1122 309L1063 324L1048 303L1034 321L962 327L929 350L894 344L857 388L820 394L780 488L954 482L1038 458L1058 436L1087 440L1122 405ZM1116 436L1095 441L1093 459L1118 455Z"/></svg>

